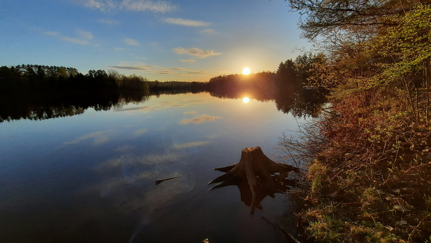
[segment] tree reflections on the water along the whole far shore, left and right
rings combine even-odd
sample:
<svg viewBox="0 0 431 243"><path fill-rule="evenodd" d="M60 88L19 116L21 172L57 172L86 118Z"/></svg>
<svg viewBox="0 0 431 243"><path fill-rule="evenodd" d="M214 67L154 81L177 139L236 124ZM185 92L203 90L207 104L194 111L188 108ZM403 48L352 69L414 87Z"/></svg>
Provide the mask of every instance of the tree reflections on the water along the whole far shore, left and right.
<svg viewBox="0 0 431 243"><path fill-rule="evenodd" d="M146 102L151 96L199 93L202 89L180 88L172 90L141 90L135 92L100 93L44 93L31 95L5 94L0 99L0 123L3 121L29 119L43 120L83 114L88 108L94 110L121 110L127 104ZM275 101L278 110L297 117L315 117L323 104L322 95L314 90L285 87L282 89L262 87L217 87L209 90L218 98L255 98L259 101Z"/></svg>

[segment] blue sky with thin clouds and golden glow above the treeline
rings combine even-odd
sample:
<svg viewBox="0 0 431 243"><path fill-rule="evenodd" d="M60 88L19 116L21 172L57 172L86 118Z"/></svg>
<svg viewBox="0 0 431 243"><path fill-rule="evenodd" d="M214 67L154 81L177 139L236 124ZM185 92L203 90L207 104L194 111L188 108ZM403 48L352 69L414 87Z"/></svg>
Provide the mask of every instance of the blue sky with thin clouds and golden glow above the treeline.
<svg viewBox="0 0 431 243"><path fill-rule="evenodd" d="M116 69L151 81L275 71L296 58L284 0L1 0L0 66Z"/></svg>

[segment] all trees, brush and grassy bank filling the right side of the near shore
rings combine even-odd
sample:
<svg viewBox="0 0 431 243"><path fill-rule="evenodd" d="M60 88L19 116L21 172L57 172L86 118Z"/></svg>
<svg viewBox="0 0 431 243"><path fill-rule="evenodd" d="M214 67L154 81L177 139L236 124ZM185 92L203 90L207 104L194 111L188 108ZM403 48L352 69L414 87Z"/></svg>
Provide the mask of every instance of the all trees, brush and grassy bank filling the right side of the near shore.
<svg viewBox="0 0 431 243"><path fill-rule="evenodd" d="M431 2L289 3L331 102L279 142L304 167L300 240L431 242Z"/></svg>

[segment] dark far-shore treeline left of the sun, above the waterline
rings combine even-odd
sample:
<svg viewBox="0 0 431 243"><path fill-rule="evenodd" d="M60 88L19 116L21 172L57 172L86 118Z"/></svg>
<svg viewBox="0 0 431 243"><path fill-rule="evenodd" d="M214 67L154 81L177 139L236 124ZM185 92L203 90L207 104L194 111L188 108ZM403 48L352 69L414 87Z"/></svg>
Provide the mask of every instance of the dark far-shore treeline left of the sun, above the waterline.
<svg viewBox="0 0 431 243"><path fill-rule="evenodd" d="M132 74L125 76L114 69L89 70L87 74L64 66L18 65L0 67L0 93L23 92L94 92L120 90L194 88L203 90L201 82L150 82Z"/></svg>

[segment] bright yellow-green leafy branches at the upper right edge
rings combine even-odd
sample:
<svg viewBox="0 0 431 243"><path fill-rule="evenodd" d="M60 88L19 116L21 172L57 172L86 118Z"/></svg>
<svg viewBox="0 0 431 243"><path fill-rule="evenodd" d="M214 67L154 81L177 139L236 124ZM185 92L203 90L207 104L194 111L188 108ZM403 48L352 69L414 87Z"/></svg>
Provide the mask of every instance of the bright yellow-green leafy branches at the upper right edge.
<svg viewBox="0 0 431 243"><path fill-rule="evenodd" d="M383 59L375 80L396 82L420 74L431 60L431 6L418 4L403 16L386 18L392 26L370 43L371 52Z"/></svg>

